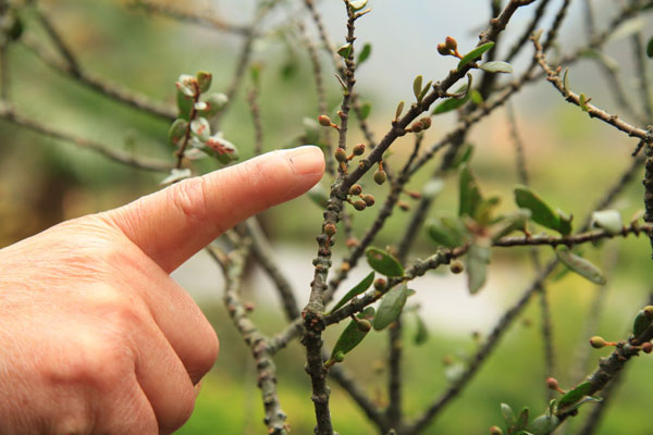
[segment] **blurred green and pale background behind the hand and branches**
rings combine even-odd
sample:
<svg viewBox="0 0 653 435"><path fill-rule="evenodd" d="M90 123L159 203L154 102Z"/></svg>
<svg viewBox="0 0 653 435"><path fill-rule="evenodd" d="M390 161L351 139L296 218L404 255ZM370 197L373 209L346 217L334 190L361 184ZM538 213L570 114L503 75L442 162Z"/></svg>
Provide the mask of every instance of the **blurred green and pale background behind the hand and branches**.
<svg viewBox="0 0 653 435"><path fill-rule="evenodd" d="M305 22L309 36L317 44L315 26L303 2L287 0L280 3L259 24L257 29L266 37L254 44L251 53L251 62L260 69L264 150L300 145L305 117L315 120L320 114L311 65L306 48L298 42L295 22ZM357 44L360 47L371 42L372 55L357 75L357 89L361 99L371 103L368 121L378 138L390 127L397 102L412 99L411 84L416 75L422 74L426 80L438 80L455 69L454 59L438 54L435 46L439 42L446 36L454 36L461 52L476 45L478 33L490 16L490 3L486 0L369 1L372 13L359 21ZM552 22L560 3L551 1L542 21L543 27ZM603 29L623 2L591 0L590 3L595 13L596 28ZM134 2L41 0L39 4L84 70L135 89L170 108L174 108L174 83L181 74L209 71L213 74L211 90L226 91L244 44L242 35L148 12L134 7ZM254 0L160 0L156 4L243 26L249 25L256 11ZM552 57L587 44L586 4L586 1L572 1ZM317 2L317 8L323 14L333 44L336 47L342 45L346 32L342 2L325 0ZM505 53L510 41L520 35L531 20L532 10L525 8L516 13L500 52ZM34 8L23 9L21 18L25 27L23 37L39 41L47 52L56 54ZM619 83L628 101L634 105L640 104L641 97L633 74L629 36L636 30L643 30L648 40L653 33L652 23L651 12L630 20L615 32L606 45L605 62L612 62L618 70ZM516 74L530 62L532 48L522 50L513 62ZM571 67L570 87L591 96L597 107L620 114L596 61L589 55L587 58ZM501 54L497 60L501 60ZM173 162L173 150L167 145L170 125L167 120L128 108L79 85L74 78L49 67L21 40L7 48L2 61L9 76L9 98L16 111L28 119L115 149ZM333 76L330 59L322 55L321 63L329 104L335 112L340 85ZM653 71L649 61L649 73ZM651 80L653 77L649 74L648 78ZM251 88L247 73L233 105L220 122L225 137L238 147L242 159L254 153L254 127L245 101ZM542 80L526 86L513 99L513 104L533 189L580 221L629 165L630 153L637 142L600 121L590 120ZM333 113L329 114L333 116ZM624 117L628 121L627 114ZM433 127L427 132L426 144L435 142L455 123L453 112L433 117ZM483 191L501 196L502 210L514 209L512 189L518 183L518 176L506 111L494 111L472 128L468 139L475 146L471 166ZM361 134L353 128L350 144L362 140ZM121 206L158 189L164 177L161 173L122 166L93 151L79 150L67 141L36 134L1 119L0 150L0 247L63 220ZM403 162L410 150L408 138L398 140L393 146L391 163ZM409 187L420 190L438 163L434 161L424 169ZM197 170L201 173L215 167L204 164ZM641 176L639 174L638 179ZM324 188L329 187L329 182L323 181ZM455 174L451 174L445 183L432 213L457 210ZM368 187L379 202L384 190L371 183L366 189ZM629 220L643 208L642 197L643 187L633 183L615 208L625 220ZM374 214L373 211L357 213L357 234L362 234ZM395 212L375 245L392 245L403 233L408 217L408 213ZM312 277L315 236L321 224L320 208L303 197L266 212L262 219L283 269L294 279L298 300L305 302ZM342 258L342 245L336 245L336 258ZM572 274L553 279L547 285L554 323L556 377L563 387L575 381L572 372L578 371L575 368L576 357L589 347L589 337L582 336L588 321L595 322L591 335L603 335L606 339L624 338L634 313L653 291L651 248L645 238L609 240L603 248L589 248L587 254L609 275L606 286L596 287ZM427 256L434 249L428 237L420 237L412 258ZM541 248L541 251L544 259L553 254L550 248ZM534 272L527 253L528 250L521 248L509 251L495 249L489 283L473 297L468 295L465 277L453 276L448 271L431 273L415 283L418 294L411 301L420 306L430 337L426 344L416 346L412 343L416 324L412 318L408 319L405 339L408 413L418 414L424 403L447 386L456 370L475 351L479 339L528 287ZM335 264L338 264L337 260ZM343 290L369 272L367 265L359 269L352 274ZM284 318L272 286L260 271L252 271L250 276L247 298L257 306L254 319L260 322L264 332L273 334L279 331ZM222 307L219 268L206 254L199 253L177 270L174 277L200 303L221 338L218 363L204 383L193 418L178 433L262 433L263 413L254 381L255 369L248 350ZM600 312L592 311L596 293L603 295ZM501 402L507 402L514 409L528 406L531 412L542 412L546 406L546 391L540 323L537 303L531 303L475 382L427 433L486 433L489 426L502 423ZM342 327L332 330L326 334L328 346L333 345ZM386 352L385 337L377 335L348 356L346 365L366 383L374 400L384 403L386 371L382 359ZM581 368L583 372L590 373L599 357L607 352L605 349L593 350L589 365ZM312 433L313 411L308 376L303 369L303 348L293 344L276 357L275 362L280 372L280 398L289 415L293 432ZM644 357L628 365L616 393L617 398L605 413L600 434L624 433L625 427L633 434L653 433L649 423L653 361ZM333 386L331 403L334 425L341 434L373 433L364 413L336 386ZM579 421L589 413L590 407L584 408L569 425L580 427Z"/></svg>

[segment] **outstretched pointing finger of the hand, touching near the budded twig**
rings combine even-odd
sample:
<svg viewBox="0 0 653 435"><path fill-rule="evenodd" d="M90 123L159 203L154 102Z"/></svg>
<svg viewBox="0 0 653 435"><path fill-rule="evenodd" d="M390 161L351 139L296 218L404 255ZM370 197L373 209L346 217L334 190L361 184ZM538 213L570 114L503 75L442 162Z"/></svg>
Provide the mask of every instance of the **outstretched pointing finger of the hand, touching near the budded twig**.
<svg viewBox="0 0 653 435"><path fill-rule="evenodd" d="M103 217L172 272L238 222L304 194L323 172L317 147L272 151L185 179Z"/></svg>

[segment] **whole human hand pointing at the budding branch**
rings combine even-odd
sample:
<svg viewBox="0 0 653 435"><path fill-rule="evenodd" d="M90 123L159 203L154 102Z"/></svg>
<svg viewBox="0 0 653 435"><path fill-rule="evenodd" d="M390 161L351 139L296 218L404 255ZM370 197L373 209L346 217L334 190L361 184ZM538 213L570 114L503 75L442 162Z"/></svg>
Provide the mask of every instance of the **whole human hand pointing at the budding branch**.
<svg viewBox="0 0 653 435"><path fill-rule="evenodd" d="M274 151L0 250L0 433L184 424L219 344L169 274L323 170L316 147Z"/></svg>

